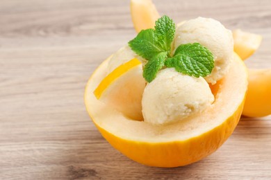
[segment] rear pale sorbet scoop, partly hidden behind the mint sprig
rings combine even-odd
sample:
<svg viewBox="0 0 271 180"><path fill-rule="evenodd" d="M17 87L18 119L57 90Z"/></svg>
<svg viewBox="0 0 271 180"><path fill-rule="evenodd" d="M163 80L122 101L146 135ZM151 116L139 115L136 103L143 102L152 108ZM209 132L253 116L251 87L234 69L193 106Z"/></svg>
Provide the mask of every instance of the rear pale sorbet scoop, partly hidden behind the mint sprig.
<svg viewBox="0 0 271 180"><path fill-rule="evenodd" d="M229 70L233 59L233 36L219 21L198 17L176 28L174 51L181 44L198 42L208 48L215 58L215 68L205 80L215 84Z"/></svg>

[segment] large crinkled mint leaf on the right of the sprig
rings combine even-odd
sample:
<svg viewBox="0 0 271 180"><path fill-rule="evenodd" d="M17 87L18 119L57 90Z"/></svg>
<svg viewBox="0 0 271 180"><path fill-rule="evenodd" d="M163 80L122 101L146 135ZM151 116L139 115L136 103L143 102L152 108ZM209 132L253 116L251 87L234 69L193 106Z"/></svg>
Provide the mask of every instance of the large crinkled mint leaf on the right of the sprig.
<svg viewBox="0 0 271 180"><path fill-rule="evenodd" d="M205 77L213 70L213 54L199 43L182 44L176 49L174 57L167 59L165 66L197 78Z"/></svg>

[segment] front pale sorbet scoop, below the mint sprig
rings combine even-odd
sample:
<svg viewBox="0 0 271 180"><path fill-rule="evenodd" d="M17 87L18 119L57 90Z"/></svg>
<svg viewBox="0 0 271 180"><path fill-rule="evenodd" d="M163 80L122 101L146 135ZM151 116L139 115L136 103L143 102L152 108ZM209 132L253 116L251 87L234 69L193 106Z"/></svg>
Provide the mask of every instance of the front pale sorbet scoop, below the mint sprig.
<svg viewBox="0 0 271 180"><path fill-rule="evenodd" d="M172 123L204 111L214 100L204 78L163 69L147 84L142 97L145 122L154 125Z"/></svg>

